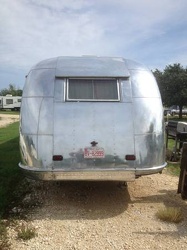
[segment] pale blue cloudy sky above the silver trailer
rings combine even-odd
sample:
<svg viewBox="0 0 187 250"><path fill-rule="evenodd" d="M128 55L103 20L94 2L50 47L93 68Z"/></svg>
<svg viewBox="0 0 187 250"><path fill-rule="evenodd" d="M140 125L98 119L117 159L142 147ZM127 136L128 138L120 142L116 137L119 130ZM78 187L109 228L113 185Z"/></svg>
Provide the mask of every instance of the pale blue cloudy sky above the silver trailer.
<svg viewBox="0 0 187 250"><path fill-rule="evenodd" d="M0 0L0 90L23 88L36 63L114 56L187 67L186 0Z"/></svg>

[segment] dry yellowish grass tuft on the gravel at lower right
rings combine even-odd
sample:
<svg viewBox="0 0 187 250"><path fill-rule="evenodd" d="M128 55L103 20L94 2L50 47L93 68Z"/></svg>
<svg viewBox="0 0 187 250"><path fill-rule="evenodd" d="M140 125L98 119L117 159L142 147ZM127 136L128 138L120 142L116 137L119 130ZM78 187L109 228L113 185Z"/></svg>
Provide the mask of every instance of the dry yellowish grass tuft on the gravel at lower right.
<svg viewBox="0 0 187 250"><path fill-rule="evenodd" d="M156 217L162 221L179 223L183 220L183 215L180 208L165 207L157 211Z"/></svg>

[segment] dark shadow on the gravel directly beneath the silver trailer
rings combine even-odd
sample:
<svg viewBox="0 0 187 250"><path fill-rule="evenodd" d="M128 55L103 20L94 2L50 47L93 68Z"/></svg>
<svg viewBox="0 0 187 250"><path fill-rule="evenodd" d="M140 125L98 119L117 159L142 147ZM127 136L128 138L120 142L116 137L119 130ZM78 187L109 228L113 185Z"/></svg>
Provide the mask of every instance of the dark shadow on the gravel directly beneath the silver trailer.
<svg viewBox="0 0 187 250"><path fill-rule="evenodd" d="M34 218L56 220L110 218L123 213L131 202L127 187L96 181L43 182L35 198L42 206L31 211Z"/></svg>

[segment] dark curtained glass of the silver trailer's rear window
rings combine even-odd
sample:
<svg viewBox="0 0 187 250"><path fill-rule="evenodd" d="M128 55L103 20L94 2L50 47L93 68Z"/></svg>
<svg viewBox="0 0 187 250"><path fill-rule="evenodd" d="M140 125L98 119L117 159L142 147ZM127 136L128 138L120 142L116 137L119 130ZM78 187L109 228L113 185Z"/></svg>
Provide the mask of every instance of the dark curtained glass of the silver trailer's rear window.
<svg viewBox="0 0 187 250"><path fill-rule="evenodd" d="M68 100L118 101L116 79L69 79Z"/></svg>

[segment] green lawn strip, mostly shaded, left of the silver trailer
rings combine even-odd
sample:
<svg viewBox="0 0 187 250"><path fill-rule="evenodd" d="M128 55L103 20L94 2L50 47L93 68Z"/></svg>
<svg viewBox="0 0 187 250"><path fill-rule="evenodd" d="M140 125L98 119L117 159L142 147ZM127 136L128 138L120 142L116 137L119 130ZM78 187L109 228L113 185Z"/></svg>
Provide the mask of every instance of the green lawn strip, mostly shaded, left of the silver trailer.
<svg viewBox="0 0 187 250"><path fill-rule="evenodd" d="M18 167L19 122L0 129L0 218L15 201L15 190L23 179Z"/></svg>

